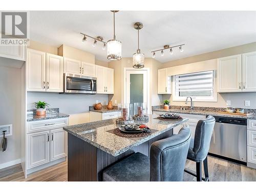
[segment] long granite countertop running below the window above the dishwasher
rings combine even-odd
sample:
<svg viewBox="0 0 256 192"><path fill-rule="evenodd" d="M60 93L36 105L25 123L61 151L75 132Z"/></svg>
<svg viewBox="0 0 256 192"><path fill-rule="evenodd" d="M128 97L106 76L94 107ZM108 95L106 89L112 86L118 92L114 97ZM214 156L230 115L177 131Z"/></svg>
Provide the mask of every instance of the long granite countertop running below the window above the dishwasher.
<svg viewBox="0 0 256 192"><path fill-rule="evenodd" d="M256 114L254 113L254 115L251 116L241 116L241 115L229 115L229 114L223 114L223 113L219 113L220 111L218 110L214 110L214 111L210 111L207 109L195 109L193 111L191 110L179 110L179 109L169 109L169 110L164 110L162 108L158 108L158 109L152 109L152 111L157 111L157 112L164 112L164 113L183 113L183 114L194 114L194 115L212 115L212 116L220 116L220 117L234 117L234 118L245 118L245 119L256 119Z"/></svg>

